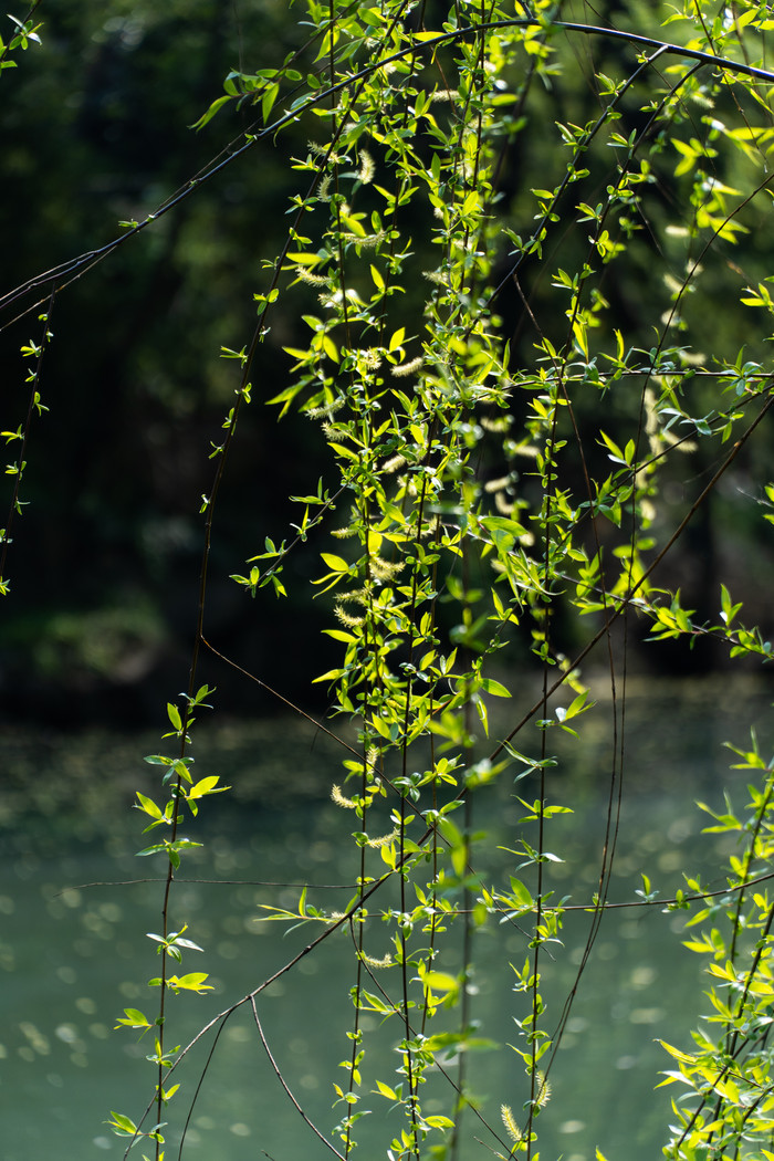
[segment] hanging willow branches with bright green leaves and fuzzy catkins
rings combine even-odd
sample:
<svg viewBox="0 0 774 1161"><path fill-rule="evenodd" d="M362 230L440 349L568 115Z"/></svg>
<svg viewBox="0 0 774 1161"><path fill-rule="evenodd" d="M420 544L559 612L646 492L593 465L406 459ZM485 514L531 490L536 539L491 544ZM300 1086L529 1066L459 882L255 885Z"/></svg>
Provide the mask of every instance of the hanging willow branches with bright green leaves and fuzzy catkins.
<svg viewBox="0 0 774 1161"><path fill-rule="evenodd" d="M68 280L174 217L233 159L281 149L283 134L303 127L309 144L289 160L297 186L254 291L254 331L240 349L220 344L233 396L203 450L214 474L201 497L190 679L167 706L172 755L147 759L164 772L160 794L138 793L136 803L160 836L139 853L165 873L162 925L150 935L159 1003L125 1009L118 1024L152 1039L155 1087L144 1116L113 1112L110 1124L157 1161L173 1118L185 1152L217 1034L243 1008L288 1108L337 1156L366 1139L370 1113L378 1127L368 1128L368 1148L391 1161L475 1148L536 1159L556 1052L612 902L630 640L711 641L736 663L771 659L766 626L747 620L735 597L732 558L707 615L668 570L675 546L742 466L759 536L769 520L774 484L761 473L774 398L772 21L764 6L739 0L719 13L632 7L624 27L603 30L578 8L536 0L514 16L494 0L448 12L310 0L303 17L298 10L305 44L280 66L232 70L196 121L212 132L230 111L251 118L227 157L150 216L125 219L97 254L24 288L50 296L44 339L26 348L38 358L27 426L5 433L27 454L43 406L49 315ZM637 31L628 27L646 16ZM659 20L675 43L661 39ZM576 85L570 102L564 86L578 71L588 95ZM758 248L739 258L748 233ZM273 344L289 367L279 390L265 370ZM319 728L342 750L332 796L353 819L356 887L335 911L308 887L292 908L267 907L267 921L309 926L310 942L188 1046L173 1047L180 993L211 987L207 972L188 971L201 947L174 906L175 874L198 845L183 830L204 798L226 789L219 777L191 772L195 717L214 692L200 677L203 656L270 685L243 655L218 648L207 620L229 464L259 396L270 421L295 412L313 425L326 469L318 482L296 464L290 528L256 541L231 576L254 598L260 623L274 615L267 601L301 583L299 548L319 554L311 584L340 655L306 679L331 699L334 723ZM8 468L17 484L8 529L22 512L24 467L20 453ZM707 578L694 589L707 598ZM596 892L571 901L552 871L562 859L554 835L572 809L552 738L599 713L584 671L598 647L612 704L607 835ZM493 699L514 692L527 705L502 727ZM737 752L762 783L750 788L747 817L731 806L714 815L747 841L722 893L688 877L663 902L648 875L637 892L638 906L667 914L696 904L689 923L707 926L689 946L712 959L716 1034L697 1033L695 1052L667 1046L678 1061L667 1081L687 1088L665 1147L675 1159L772 1155L774 911L761 889L772 763L755 747ZM490 873L477 812L506 779L518 784L523 815L506 868ZM552 1012L544 976L562 954L570 908L587 913L586 947L576 987ZM473 972L478 940L504 930L522 937L509 965L514 1043L499 1050L518 1098L492 1109L470 1065L475 1051L494 1051L476 1026ZM348 1029L332 1029L345 1059L332 1082L335 1123L321 1126L291 1091L259 1009L270 983L340 935L352 943L353 1016ZM390 1034L384 1055L372 1017ZM179 1065L210 1030L215 1047L186 1093ZM442 1113L425 1098L439 1088Z"/></svg>

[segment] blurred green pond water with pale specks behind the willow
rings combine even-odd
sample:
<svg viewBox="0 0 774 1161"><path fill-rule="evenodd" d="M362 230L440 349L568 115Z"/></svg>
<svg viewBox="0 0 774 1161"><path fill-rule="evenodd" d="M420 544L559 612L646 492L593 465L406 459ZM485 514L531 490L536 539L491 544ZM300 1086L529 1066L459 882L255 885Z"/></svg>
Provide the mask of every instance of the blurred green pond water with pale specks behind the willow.
<svg viewBox="0 0 774 1161"><path fill-rule="evenodd" d="M663 897L682 885L683 871L701 870L722 884L723 860L733 843L702 836L706 816L694 803L722 803L724 786L735 803L746 800L747 777L729 771L732 756L722 743L745 745L751 722L762 740L772 738L771 700L769 690L752 682L634 690L612 899L632 900L642 870ZM552 882L572 902L587 901L596 886L608 734L609 717L600 704L583 720L580 744L556 740L560 760L551 777L562 785L554 798L574 813L551 821L551 844L565 859L552 867ZM129 806L135 788L153 792L155 774L142 757L158 750L157 735L6 731L0 794L2 1161L44 1155L117 1161L123 1145L104 1124L109 1110L137 1119L152 1095L152 1068L144 1059L152 1045L114 1031L114 1025L123 1008L152 1010L145 983L158 960L145 932L160 930L160 885L135 880L153 879L159 867L153 859L135 857L147 838L140 837L140 815ZM328 798L331 781L340 780L330 741L296 721L216 724L214 719L202 727L194 752L202 777L220 773L233 791L204 805L197 834L191 831L204 846L183 871L186 880L218 884L185 881L174 892L175 916L205 949L203 956L189 953L185 969L200 969L201 960L215 986L207 996L172 1001L175 1044L186 1044L210 1016L255 988L318 933L309 926L284 933L281 924L256 921L261 903L297 901L295 887L269 884L313 882L318 888L310 899L335 906L332 896L343 904L352 892L327 885L352 884L357 873L346 838L352 817ZM515 792L529 796L525 783ZM494 863L512 858L495 848L513 846L519 832L523 810L513 794L507 780L499 796L476 807L475 824L489 831L487 857ZM116 882L122 885L106 885ZM681 945L685 920L685 914L666 916L660 908L621 908L605 917L551 1069L552 1096L538 1122L543 1161L593 1161L596 1147L609 1161L659 1155L668 1135L672 1093L654 1091L659 1070L670 1067L658 1040L685 1045L706 1007L703 964ZM567 915L563 946L544 960L545 1026L558 1019L573 985L588 924L587 914ZM491 923L475 938L471 1015L482 1037L513 1044L523 1000L513 991L509 964L523 962L525 937L514 926ZM374 929L374 954L388 950L386 939L386 929L383 936ZM331 1083L349 1052L345 1030L352 1018L352 965L350 937L335 933L259 1001L283 1075L306 1115L326 1132L340 1115L331 1109ZM454 957L444 960L448 971L458 966ZM389 973L384 986L390 987ZM392 1043L390 1022L381 1031L374 1017L366 1022L377 1041ZM211 1043L201 1044L181 1066L176 1079L188 1094ZM369 1070L375 1055L372 1050L363 1066L367 1091L375 1088ZM505 1103L520 1119L526 1091L515 1053L506 1047L471 1054L468 1070L484 1116L499 1127ZM372 1099L378 1109L385 1105ZM424 1099L427 1112L448 1110L440 1077L431 1080ZM366 1119L359 1125L361 1156L384 1155L384 1126L377 1119L375 1113L372 1125ZM400 1119L393 1116L388 1124L397 1131ZM491 1156L495 1142L472 1113L463 1125L461 1161ZM274 1161L331 1156L290 1106L245 1005L218 1040L185 1156L252 1161L265 1154ZM176 1155L176 1145L169 1144L167 1161Z"/></svg>

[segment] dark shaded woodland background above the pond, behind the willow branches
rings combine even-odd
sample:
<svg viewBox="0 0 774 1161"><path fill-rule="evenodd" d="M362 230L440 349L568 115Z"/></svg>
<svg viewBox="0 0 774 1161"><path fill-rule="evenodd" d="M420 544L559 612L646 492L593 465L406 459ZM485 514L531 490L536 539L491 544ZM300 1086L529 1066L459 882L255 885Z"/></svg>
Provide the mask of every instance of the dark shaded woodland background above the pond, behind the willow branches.
<svg viewBox="0 0 774 1161"><path fill-rule="evenodd" d="M305 34L295 23L301 15L273 0L45 0L38 13L43 46L19 53L19 67L2 77L0 293L109 241L120 232L118 221L142 221L237 137L249 124L247 108L222 111L198 134L189 127L219 95L231 68L279 65L301 45ZM630 15L628 6L612 6L612 15L620 24L642 20L639 7ZM631 66L620 48L600 43L594 55L610 73ZM500 181L516 216L523 205L531 218L529 187L549 186L564 164L541 118L580 123L599 109L588 62L579 55L576 64L551 93L536 98L531 120L506 157ZM632 100L621 131L641 122ZM214 473L208 454L238 385L237 365L218 353L249 341L253 294L266 288L262 262L279 250L289 197L303 188L288 163L304 156L308 131L292 127L225 167L58 295L41 384L49 411L32 424L22 484L28 506L14 524L6 569L12 592L0 605L6 716L55 724L157 720L160 705L186 685L201 565L198 509ZM666 159L652 190L653 238L680 197L672 170ZM600 185L603 179L592 175L573 200L592 200ZM772 224L760 214L733 251L751 282L767 275L773 243ZM577 262L584 244L569 233L557 241L559 257ZM696 345L722 346L728 334L729 349L748 342L766 354L765 336L751 331L751 312L726 309L728 255L719 250L717 266L708 262L704 297L692 318ZM642 304L659 295L668 302L654 254L668 265L668 254L639 236L625 271L610 267L606 286L615 325L646 346L653 311ZM548 268L523 272L533 309L548 329L556 308L547 275ZM252 603L229 579L245 571L245 560L262 550L266 535L277 542L291 535L297 510L289 496L314 491L320 476L326 486L337 485L319 431L290 416L277 424L275 409L261 402L287 382L282 346L294 341L299 301L290 296L275 312L261 348L255 402L241 420L219 499L207 632L262 680L309 701L324 699L319 686L310 693L310 676L335 656L320 634L330 611L313 603L303 583L316 575L318 549L310 542L294 554L287 601L265 590ZM515 290L501 296L499 308L514 338L514 358L529 358L534 334ZM14 313L6 311L0 333L2 428L10 431L23 421L28 399L19 348L37 340L41 327L37 311L15 323ZM606 409L605 427L613 432L631 413L625 398L608 399ZM584 414L583 405L578 413L589 454L601 455L594 445L599 416ZM745 600L748 621L772 621L773 554L747 499L761 496L768 479L767 447L771 430L701 511L660 578L681 586L699 620L716 619L723 575L735 599ZM681 512L686 498L701 490L717 452L715 446L674 457L665 479L665 519L670 503ZM14 454L12 444L7 460ZM573 632L566 627L570 644ZM519 663L526 656L522 650ZM725 663L701 644L694 651L642 644L637 652L641 668L670 672ZM223 665L205 661L201 676L218 686L232 711L273 708L266 693Z"/></svg>

